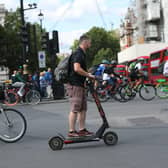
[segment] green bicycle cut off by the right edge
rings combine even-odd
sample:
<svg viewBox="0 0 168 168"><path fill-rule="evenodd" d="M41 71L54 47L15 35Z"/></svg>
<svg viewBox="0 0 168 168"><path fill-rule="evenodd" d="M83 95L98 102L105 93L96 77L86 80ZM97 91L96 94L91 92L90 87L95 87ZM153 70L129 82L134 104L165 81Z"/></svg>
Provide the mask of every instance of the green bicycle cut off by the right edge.
<svg viewBox="0 0 168 168"><path fill-rule="evenodd" d="M158 79L156 88L156 95L161 99L168 98L168 82L166 79Z"/></svg>

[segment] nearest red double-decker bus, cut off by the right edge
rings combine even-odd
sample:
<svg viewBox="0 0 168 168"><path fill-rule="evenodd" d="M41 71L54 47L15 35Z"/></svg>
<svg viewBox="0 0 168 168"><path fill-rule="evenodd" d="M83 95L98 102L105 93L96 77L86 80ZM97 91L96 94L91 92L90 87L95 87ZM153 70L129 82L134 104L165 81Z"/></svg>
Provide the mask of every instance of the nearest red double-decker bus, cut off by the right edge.
<svg viewBox="0 0 168 168"><path fill-rule="evenodd" d="M168 81L168 78L163 76L161 67L168 60L168 47L155 51L150 54L150 79L153 84L157 84L157 79L163 78Z"/></svg>

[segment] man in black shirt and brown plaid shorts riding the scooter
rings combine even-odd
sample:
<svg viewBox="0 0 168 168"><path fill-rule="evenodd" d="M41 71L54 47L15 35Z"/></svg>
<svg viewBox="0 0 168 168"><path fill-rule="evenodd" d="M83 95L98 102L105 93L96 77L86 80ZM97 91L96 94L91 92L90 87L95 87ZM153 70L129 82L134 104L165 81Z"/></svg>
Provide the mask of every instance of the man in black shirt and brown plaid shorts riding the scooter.
<svg viewBox="0 0 168 168"><path fill-rule="evenodd" d="M86 77L94 79L94 75L87 72L86 50L91 46L91 40L83 35L79 39L79 47L70 58L70 78L67 92L70 100L69 137L92 135L85 128L87 99L85 94ZM76 121L79 122L79 131L76 131Z"/></svg>

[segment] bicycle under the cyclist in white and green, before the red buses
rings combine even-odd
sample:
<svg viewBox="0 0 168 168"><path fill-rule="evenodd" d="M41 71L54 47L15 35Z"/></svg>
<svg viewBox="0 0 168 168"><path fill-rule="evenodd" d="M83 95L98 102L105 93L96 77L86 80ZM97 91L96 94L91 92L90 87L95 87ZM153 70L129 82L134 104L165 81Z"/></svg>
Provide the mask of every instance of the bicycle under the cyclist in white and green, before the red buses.
<svg viewBox="0 0 168 168"><path fill-rule="evenodd" d="M137 93L139 94L139 97L145 101L151 101L156 96L155 87L152 84L145 84L144 82L140 83L136 89L130 87L130 83L128 83L128 85L120 89L120 92L121 97L126 100L132 100L136 97Z"/></svg>

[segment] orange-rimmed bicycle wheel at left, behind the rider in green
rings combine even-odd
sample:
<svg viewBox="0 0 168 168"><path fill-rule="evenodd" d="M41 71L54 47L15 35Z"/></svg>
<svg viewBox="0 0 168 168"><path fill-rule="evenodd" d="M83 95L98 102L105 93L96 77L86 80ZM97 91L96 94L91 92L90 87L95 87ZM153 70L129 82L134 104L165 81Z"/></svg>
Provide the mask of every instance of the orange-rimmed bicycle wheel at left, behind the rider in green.
<svg viewBox="0 0 168 168"><path fill-rule="evenodd" d="M4 103L7 106L14 106L19 102L19 96L17 95L17 93L13 92L13 91L7 91L5 93L5 100Z"/></svg>

